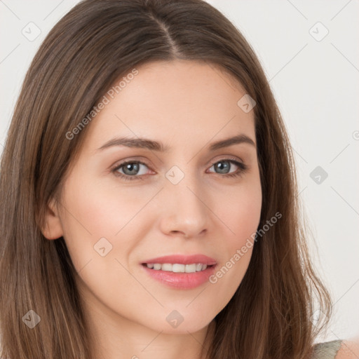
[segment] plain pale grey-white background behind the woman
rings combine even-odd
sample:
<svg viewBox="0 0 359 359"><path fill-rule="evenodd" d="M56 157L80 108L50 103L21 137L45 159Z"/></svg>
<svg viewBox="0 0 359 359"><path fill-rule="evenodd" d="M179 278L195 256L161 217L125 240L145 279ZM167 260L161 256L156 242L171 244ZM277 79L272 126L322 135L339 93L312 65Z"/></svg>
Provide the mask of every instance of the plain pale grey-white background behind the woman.
<svg viewBox="0 0 359 359"><path fill-rule="evenodd" d="M0 151L32 57L77 2L0 0ZM318 341L358 336L358 0L208 2L255 49L290 134L299 196L316 238L311 251L334 299L330 329ZM41 34L29 41L36 27ZM316 172L311 178L317 166L326 179Z"/></svg>

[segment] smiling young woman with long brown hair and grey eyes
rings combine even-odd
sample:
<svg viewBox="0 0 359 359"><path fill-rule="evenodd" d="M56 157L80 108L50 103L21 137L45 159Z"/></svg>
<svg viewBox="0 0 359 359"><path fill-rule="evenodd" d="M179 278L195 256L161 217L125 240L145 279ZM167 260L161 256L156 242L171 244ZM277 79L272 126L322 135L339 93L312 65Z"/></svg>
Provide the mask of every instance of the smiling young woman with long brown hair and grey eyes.
<svg viewBox="0 0 359 359"><path fill-rule="evenodd" d="M65 15L25 78L0 197L2 358L346 355L313 346L331 300L269 84L201 0Z"/></svg>

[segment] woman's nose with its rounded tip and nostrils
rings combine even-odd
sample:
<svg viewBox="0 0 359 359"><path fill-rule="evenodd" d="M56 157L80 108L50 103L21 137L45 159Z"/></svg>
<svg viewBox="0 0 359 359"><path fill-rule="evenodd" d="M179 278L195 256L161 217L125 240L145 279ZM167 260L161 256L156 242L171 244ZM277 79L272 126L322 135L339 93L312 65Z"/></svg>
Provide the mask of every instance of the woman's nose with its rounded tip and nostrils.
<svg viewBox="0 0 359 359"><path fill-rule="evenodd" d="M161 231L168 236L195 238L208 231L210 209L205 198L210 198L199 180L185 176L178 184L165 183L162 196Z"/></svg>

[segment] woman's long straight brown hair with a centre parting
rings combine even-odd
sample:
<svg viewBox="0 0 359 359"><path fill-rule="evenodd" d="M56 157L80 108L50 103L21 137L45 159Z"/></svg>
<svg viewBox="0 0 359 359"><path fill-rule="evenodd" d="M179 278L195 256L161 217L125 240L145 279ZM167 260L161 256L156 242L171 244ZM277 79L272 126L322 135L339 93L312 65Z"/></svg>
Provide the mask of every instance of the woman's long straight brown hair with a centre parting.
<svg viewBox="0 0 359 359"><path fill-rule="evenodd" d="M93 358L64 239L48 241L40 230L91 124L72 140L66 134L120 76L178 58L221 66L255 100L259 228L282 215L255 243L241 285L216 316L208 358L306 358L327 325L330 294L309 259L290 142L248 42L205 1L85 0L36 53L1 158L1 358ZM41 318L32 329L30 310Z"/></svg>

